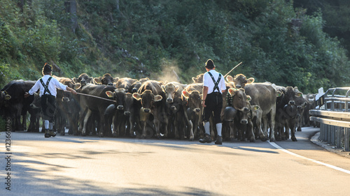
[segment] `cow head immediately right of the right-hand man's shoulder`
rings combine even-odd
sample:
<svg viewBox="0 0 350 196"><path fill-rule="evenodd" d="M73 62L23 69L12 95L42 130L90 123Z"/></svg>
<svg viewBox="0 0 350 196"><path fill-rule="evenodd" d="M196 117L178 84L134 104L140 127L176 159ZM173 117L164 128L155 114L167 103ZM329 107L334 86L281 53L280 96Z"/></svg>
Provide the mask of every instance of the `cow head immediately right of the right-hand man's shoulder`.
<svg viewBox="0 0 350 196"><path fill-rule="evenodd" d="M228 89L228 93L232 96L232 106L239 111L249 112L248 102L251 96L246 95L244 89Z"/></svg>

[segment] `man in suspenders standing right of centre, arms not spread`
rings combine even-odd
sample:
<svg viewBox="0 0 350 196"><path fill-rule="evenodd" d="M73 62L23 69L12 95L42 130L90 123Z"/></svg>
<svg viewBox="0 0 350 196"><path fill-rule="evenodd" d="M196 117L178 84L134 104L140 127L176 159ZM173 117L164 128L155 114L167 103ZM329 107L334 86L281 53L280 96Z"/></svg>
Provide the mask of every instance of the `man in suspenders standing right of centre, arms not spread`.
<svg viewBox="0 0 350 196"><path fill-rule="evenodd" d="M210 143L210 124L209 118L211 114L214 114L214 122L216 124L216 130L218 136L216 137L215 144L223 144L223 138L221 136L221 110L223 107L223 96L222 93L226 90L225 79L221 73L216 72L214 62L209 59L205 63L207 73L203 75L203 123L205 136L200 139L201 143Z"/></svg>

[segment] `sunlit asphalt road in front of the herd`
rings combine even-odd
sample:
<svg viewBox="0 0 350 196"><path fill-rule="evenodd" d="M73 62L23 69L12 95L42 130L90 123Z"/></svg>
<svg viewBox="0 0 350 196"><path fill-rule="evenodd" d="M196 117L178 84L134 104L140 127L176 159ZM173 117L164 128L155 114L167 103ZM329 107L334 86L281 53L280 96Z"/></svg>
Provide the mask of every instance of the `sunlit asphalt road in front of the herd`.
<svg viewBox="0 0 350 196"><path fill-rule="evenodd" d="M15 132L10 149L1 132L0 195L350 195L349 158L310 142L317 131L221 146Z"/></svg>

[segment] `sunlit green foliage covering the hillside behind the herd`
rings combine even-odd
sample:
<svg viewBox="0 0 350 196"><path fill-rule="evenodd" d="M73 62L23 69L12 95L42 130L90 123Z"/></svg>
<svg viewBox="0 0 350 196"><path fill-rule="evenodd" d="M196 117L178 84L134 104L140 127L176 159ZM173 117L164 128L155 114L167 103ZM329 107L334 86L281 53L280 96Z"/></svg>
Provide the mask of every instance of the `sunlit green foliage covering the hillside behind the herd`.
<svg viewBox="0 0 350 196"><path fill-rule="evenodd" d="M232 75L305 93L348 86L346 50L322 13L287 0L3 0L0 84L36 80L46 61L66 77L187 83L210 58L223 74L242 61Z"/></svg>

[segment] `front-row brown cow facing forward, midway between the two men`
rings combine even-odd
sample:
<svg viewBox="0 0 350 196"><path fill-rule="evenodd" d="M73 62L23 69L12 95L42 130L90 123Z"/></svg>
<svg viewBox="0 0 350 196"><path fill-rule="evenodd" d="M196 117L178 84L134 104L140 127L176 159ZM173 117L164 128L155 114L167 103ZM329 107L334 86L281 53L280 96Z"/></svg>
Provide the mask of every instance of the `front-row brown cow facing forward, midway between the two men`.
<svg viewBox="0 0 350 196"><path fill-rule="evenodd" d="M137 93L132 96L141 101L140 123L142 127L142 138L146 137L146 121L150 114L153 114L153 124L158 139L160 138L160 127L164 124L165 134L167 137L168 119L165 113L165 93L162 91L162 83L155 80L148 80L141 85Z"/></svg>

